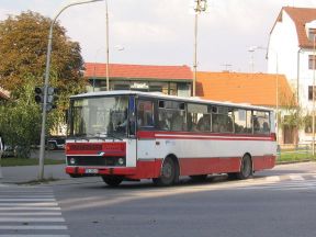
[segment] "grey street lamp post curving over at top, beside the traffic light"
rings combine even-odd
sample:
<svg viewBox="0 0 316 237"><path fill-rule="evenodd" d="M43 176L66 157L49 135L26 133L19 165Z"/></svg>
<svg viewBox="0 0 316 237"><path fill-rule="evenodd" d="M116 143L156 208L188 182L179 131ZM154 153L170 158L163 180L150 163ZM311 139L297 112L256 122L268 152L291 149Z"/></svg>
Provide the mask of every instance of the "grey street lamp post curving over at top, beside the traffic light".
<svg viewBox="0 0 316 237"><path fill-rule="evenodd" d="M50 53L52 53L52 42L53 42L53 27L57 20L57 18L61 14L63 11L65 11L67 8L71 5L77 4L83 4L83 3L90 3L90 2L97 2L97 1L103 1L103 0L81 0L81 1L75 1L66 4L63 7L53 18L53 21L50 23L49 27L49 34L48 34L48 45L47 45L47 55L46 55L46 69L45 69L45 81L44 81L44 101L43 101L43 108L42 108L42 132L41 132L41 147L40 147L40 171L38 171L38 179L42 180L44 178L44 153L45 153L45 126L46 126L46 106L47 106L47 88L49 86L49 69L50 69Z"/></svg>

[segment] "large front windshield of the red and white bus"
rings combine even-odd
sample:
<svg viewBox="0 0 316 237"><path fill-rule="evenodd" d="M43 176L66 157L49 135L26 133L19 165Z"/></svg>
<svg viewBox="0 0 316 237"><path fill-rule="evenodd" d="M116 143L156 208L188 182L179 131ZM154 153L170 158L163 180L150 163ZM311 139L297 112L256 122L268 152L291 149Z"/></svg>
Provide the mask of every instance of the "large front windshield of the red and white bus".
<svg viewBox="0 0 316 237"><path fill-rule="evenodd" d="M68 136L120 138L127 134L128 97L71 100Z"/></svg>

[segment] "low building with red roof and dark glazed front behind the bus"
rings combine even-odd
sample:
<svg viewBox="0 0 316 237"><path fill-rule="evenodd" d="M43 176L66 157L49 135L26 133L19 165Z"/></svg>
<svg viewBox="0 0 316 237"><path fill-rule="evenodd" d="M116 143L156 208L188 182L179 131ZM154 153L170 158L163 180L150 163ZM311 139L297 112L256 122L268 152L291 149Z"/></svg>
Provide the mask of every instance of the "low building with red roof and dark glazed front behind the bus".
<svg viewBox="0 0 316 237"><path fill-rule="evenodd" d="M88 91L106 90L106 65L87 63L84 77ZM188 66L110 64L111 90L159 91L173 95L191 95L193 74Z"/></svg>

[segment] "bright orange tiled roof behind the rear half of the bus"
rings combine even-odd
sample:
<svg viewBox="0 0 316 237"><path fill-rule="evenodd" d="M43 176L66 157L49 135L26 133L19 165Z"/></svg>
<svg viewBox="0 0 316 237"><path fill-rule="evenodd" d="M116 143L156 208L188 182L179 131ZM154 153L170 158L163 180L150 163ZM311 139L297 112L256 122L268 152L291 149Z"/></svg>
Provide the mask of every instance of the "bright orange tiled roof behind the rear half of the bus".
<svg viewBox="0 0 316 237"><path fill-rule="evenodd" d="M206 100L230 101L261 106L280 106L294 94L284 75L198 72L196 95Z"/></svg>

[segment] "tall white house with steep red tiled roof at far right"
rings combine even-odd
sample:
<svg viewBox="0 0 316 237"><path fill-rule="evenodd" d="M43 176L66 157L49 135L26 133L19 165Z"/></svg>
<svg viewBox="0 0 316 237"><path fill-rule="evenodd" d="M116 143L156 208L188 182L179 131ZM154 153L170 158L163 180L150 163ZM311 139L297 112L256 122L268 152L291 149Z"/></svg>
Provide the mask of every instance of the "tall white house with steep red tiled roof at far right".
<svg viewBox="0 0 316 237"><path fill-rule="evenodd" d="M315 35L316 9L284 7L270 32L267 54L268 72L285 75L305 115L314 110ZM298 131L300 143L312 143L311 131L312 123ZM293 133L293 127L289 133Z"/></svg>

